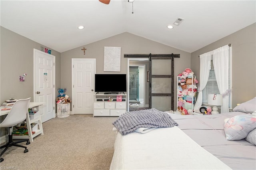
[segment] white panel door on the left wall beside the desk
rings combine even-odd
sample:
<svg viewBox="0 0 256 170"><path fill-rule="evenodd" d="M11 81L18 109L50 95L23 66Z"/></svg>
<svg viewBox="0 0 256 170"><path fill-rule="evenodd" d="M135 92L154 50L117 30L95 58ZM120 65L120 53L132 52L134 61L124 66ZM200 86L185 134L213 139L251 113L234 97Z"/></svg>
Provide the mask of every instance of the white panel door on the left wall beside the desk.
<svg viewBox="0 0 256 170"><path fill-rule="evenodd" d="M40 106L42 122L55 117L55 56L34 49L34 102Z"/></svg>

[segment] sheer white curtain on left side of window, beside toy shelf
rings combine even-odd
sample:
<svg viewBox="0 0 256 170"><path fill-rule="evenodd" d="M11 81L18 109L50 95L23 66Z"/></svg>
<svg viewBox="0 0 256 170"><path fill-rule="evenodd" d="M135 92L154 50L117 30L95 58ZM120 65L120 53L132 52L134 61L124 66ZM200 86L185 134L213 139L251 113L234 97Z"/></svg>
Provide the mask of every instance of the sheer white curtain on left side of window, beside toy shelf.
<svg viewBox="0 0 256 170"><path fill-rule="evenodd" d="M199 55L200 56L200 88L196 104L194 106L195 112L200 112L199 109L202 106L203 94L202 91L207 84L209 72L211 68L212 51Z"/></svg>

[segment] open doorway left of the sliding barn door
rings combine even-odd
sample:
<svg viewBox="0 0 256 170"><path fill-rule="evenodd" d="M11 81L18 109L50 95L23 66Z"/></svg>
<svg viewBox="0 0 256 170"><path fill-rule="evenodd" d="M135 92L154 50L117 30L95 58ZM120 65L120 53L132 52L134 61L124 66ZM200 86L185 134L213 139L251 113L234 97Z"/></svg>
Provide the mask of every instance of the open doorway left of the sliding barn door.
<svg viewBox="0 0 256 170"><path fill-rule="evenodd" d="M128 59L128 111L148 108L147 65L147 58Z"/></svg>

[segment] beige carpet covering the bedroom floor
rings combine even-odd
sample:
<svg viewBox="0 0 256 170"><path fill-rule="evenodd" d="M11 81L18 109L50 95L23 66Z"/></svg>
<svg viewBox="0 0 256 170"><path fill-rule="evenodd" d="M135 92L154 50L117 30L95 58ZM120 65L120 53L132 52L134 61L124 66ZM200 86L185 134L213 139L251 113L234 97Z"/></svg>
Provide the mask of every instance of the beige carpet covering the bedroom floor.
<svg viewBox="0 0 256 170"><path fill-rule="evenodd" d="M43 123L44 135L27 145L27 153L24 148L8 148L0 168L108 170L114 153L112 122L116 119L92 115L51 119Z"/></svg>

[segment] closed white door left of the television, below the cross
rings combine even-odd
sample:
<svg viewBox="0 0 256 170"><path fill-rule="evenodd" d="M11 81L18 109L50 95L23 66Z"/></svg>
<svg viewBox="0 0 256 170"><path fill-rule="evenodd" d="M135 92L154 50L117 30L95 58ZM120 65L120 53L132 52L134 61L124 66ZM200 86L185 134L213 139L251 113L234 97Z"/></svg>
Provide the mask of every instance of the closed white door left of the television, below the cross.
<svg viewBox="0 0 256 170"><path fill-rule="evenodd" d="M72 59L72 113L93 114L96 59Z"/></svg>

